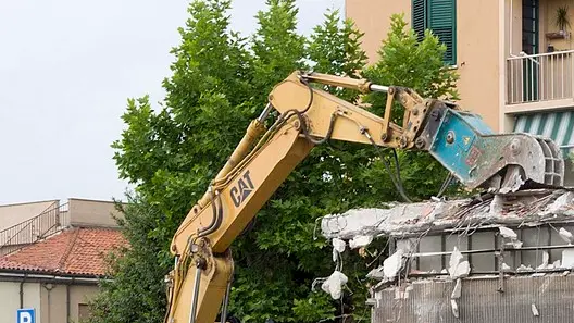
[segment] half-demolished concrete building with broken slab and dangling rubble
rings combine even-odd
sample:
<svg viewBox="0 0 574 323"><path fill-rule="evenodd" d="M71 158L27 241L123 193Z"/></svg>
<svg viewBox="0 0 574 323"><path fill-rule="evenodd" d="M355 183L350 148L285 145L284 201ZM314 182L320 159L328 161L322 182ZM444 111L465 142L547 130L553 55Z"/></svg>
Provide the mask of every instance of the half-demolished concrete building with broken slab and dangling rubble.
<svg viewBox="0 0 574 323"><path fill-rule="evenodd" d="M574 322L574 191L359 209L321 220L334 253L388 238L372 322ZM323 288L336 297L346 277Z"/></svg>

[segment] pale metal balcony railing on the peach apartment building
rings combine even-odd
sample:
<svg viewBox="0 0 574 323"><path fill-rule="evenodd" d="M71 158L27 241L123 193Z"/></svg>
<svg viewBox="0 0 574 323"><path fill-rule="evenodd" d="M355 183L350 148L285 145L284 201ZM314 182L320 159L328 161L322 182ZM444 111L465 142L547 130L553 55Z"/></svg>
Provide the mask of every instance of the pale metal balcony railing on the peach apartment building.
<svg viewBox="0 0 574 323"><path fill-rule="evenodd" d="M574 98L574 50L507 59L507 104Z"/></svg>

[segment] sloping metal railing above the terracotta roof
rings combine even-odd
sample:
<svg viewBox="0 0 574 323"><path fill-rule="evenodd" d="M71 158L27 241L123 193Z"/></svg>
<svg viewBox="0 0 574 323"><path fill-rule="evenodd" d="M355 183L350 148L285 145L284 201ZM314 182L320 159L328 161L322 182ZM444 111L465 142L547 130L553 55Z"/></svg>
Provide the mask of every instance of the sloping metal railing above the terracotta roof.
<svg viewBox="0 0 574 323"><path fill-rule="evenodd" d="M68 203L54 202L40 214L0 231L0 256L58 233L70 224Z"/></svg>

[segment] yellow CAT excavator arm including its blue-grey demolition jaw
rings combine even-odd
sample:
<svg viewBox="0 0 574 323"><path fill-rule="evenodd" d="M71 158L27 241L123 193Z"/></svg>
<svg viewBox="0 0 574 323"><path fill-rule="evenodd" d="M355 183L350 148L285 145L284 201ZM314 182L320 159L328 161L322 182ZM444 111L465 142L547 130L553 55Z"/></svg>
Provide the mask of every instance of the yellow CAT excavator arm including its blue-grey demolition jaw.
<svg viewBox="0 0 574 323"><path fill-rule="evenodd" d="M313 84L386 92L384 115ZM392 122L395 101L404 110L402 125ZM266 128L273 109L278 116ZM424 99L410 88L295 71L273 88L269 104L175 233L175 264L165 277L165 323L213 323L217 316L227 321L234 272L229 246L313 147L330 139L427 151L469 189L504 194L563 185L564 163L552 140L494 134L479 115L448 101Z"/></svg>

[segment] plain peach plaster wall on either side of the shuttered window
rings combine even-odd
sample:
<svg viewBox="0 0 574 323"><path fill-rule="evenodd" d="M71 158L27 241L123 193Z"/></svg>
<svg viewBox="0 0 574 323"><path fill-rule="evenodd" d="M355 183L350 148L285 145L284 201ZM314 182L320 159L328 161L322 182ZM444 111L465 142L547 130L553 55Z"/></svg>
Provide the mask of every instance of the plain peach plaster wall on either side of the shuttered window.
<svg viewBox="0 0 574 323"><path fill-rule="evenodd" d="M458 89L460 104L483 116L495 131L499 129L500 108L503 102L501 87L501 37L503 27L498 1L457 1L457 70L460 74ZM386 1L347 0L346 15L365 33L363 49L370 62L378 59L377 50L389 28L389 18L395 13L404 13L411 21L411 0ZM502 18L501 18L502 17ZM520 39L519 39L520 41ZM503 100L503 99L502 99Z"/></svg>

